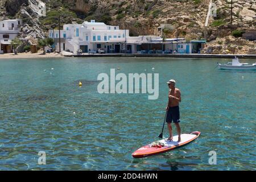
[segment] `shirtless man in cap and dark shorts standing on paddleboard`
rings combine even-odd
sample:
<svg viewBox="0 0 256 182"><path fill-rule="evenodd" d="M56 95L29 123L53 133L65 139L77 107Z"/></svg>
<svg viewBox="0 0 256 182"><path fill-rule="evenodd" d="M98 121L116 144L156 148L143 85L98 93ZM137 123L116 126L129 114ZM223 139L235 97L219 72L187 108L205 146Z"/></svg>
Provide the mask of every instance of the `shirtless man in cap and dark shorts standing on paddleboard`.
<svg viewBox="0 0 256 182"><path fill-rule="evenodd" d="M169 80L167 82L168 86L169 86L169 94L168 94L168 105L166 107L167 110L167 116L166 116L166 122L168 124L168 130L170 133L170 137L168 138L168 140L172 140L172 121L174 121L176 128L177 128L177 133L179 135L179 138L177 140L177 142L181 141L180 138L180 133L181 133L181 129L180 129L180 110L179 110L179 102L181 102L181 94L180 94L180 90L175 88L175 80Z"/></svg>

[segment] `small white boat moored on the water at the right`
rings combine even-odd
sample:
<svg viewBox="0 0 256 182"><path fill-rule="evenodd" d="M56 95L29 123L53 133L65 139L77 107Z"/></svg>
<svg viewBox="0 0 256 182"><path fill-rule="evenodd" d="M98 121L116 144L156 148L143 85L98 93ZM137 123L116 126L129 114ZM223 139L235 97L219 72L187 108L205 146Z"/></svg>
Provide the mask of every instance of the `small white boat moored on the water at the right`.
<svg viewBox="0 0 256 182"><path fill-rule="evenodd" d="M218 69L232 69L232 70L256 70L256 63L249 65L248 63L240 63L238 57L232 59L232 63L220 64L217 63Z"/></svg>

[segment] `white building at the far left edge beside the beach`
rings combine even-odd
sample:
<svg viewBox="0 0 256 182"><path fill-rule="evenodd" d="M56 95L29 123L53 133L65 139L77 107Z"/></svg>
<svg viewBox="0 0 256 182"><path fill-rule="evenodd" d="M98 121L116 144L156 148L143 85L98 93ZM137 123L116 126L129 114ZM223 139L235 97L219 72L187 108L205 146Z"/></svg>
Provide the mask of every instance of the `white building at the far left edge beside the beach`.
<svg viewBox="0 0 256 182"><path fill-rule="evenodd" d="M22 26L21 19L10 19L0 21L0 53L11 53L11 40L13 40Z"/></svg>

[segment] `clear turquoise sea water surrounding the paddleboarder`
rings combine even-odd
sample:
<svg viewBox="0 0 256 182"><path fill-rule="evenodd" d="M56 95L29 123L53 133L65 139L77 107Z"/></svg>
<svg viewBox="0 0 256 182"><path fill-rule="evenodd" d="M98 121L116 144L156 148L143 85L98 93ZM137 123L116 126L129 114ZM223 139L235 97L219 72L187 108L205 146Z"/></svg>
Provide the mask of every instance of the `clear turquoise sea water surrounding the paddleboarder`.
<svg viewBox="0 0 256 182"><path fill-rule="evenodd" d="M0 170L255 170L256 72L214 69L228 61L0 60ZM109 75L110 68L159 73L158 100L99 94L97 76ZM138 147L158 140L171 78L181 90L182 132L201 136L177 150L134 159ZM46 165L38 164L39 151L46 152ZM216 151L216 165L208 163L209 151Z"/></svg>

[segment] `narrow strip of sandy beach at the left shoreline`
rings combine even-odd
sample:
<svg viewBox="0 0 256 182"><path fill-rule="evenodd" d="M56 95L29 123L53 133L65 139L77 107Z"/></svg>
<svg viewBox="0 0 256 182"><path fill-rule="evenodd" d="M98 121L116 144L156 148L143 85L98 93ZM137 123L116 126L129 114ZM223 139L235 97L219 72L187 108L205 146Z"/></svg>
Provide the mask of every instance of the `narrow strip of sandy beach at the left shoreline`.
<svg viewBox="0 0 256 182"><path fill-rule="evenodd" d="M54 57L63 57L63 55L59 53L46 53L46 55L43 55L42 52L18 53L18 55L14 55L14 53L0 54L0 60L1 59L24 59L24 58L54 58Z"/></svg>

